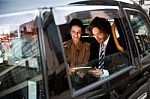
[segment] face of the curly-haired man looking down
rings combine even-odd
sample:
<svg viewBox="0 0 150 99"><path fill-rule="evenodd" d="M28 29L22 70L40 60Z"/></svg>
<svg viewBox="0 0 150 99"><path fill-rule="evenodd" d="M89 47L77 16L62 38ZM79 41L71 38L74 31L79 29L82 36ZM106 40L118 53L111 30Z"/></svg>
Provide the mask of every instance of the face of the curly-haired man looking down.
<svg viewBox="0 0 150 99"><path fill-rule="evenodd" d="M98 29L97 27L94 27L92 29L92 34L99 43L104 43L104 41L108 37L107 33L104 33L102 30Z"/></svg>

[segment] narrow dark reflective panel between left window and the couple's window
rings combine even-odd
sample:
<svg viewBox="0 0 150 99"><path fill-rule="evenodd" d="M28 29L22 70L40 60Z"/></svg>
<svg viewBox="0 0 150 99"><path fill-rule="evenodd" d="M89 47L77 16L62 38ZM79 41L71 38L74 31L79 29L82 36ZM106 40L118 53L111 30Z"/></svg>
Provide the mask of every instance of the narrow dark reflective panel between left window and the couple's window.
<svg viewBox="0 0 150 99"><path fill-rule="evenodd" d="M42 14L49 94L50 98L55 98L55 95L60 95L68 89L63 46L51 12L47 9L43 10Z"/></svg>

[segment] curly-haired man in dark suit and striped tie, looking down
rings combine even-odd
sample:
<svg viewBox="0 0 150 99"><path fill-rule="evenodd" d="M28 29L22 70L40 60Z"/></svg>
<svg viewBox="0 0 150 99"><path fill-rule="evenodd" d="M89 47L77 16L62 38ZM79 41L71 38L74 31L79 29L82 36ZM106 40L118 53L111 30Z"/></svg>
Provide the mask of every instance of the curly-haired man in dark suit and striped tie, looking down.
<svg viewBox="0 0 150 99"><path fill-rule="evenodd" d="M109 72L105 70L108 67L105 66L104 57L118 52L112 37L111 25L105 18L95 17L89 25L89 32L95 37L100 46L97 52L96 50L91 52L91 55L97 55L95 59L99 61L95 69L90 72L96 77L109 76Z"/></svg>

